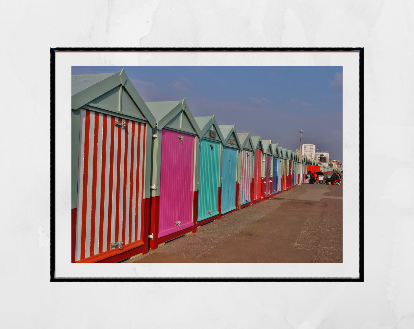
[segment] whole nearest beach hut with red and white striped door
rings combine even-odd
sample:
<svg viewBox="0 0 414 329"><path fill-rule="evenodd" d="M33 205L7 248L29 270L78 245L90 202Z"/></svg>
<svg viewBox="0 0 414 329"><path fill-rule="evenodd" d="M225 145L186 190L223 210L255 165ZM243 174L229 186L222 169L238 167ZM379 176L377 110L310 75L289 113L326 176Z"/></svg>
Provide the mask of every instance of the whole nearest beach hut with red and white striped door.
<svg viewBox="0 0 414 329"><path fill-rule="evenodd" d="M72 75L72 262L148 252L153 127L125 70Z"/></svg>

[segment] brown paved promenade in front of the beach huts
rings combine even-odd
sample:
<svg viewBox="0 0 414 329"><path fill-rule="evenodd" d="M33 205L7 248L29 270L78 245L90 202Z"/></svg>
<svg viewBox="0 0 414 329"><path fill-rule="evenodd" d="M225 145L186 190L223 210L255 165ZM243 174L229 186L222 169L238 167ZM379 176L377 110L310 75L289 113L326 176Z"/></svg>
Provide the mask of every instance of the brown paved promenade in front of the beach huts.
<svg viewBox="0 0 414 329"><path fill-rule="evenodd" d="M341 263L342 184L302 184L125 263Z"/></svg>

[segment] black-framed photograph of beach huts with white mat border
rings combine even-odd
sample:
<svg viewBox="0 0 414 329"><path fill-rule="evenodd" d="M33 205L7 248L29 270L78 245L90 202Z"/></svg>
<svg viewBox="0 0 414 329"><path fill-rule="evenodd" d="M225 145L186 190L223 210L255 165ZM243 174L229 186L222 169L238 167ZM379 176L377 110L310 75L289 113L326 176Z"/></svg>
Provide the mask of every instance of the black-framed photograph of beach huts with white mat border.
<svg viewBox="0 0 414 329"><path fill-rule="evenodd" d="M52 281L363 281L362 48L53 48L51 90Z"/></svg>

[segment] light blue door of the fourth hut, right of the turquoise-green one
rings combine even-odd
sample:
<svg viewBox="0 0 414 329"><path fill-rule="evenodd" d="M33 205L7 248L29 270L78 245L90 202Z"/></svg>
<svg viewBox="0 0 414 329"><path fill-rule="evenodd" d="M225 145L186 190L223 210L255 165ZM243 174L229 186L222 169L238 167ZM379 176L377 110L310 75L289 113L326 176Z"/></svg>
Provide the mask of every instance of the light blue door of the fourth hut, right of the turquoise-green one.
<svg viewBox="0 0 414 329"><path fill-rule="evenodd" d="M221 213L236 209L237 150L223 148L223 172L221 174Z"/></svg>

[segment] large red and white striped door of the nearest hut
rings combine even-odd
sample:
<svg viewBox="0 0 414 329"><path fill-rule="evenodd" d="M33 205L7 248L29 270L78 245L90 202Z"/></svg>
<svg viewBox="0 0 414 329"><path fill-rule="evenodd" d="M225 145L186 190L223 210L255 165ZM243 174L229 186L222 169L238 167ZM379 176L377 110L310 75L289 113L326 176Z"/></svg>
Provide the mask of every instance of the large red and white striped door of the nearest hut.
<svg viewBox="0 0 414 329"><path fill-rule="evenodd" d="M145 124L80 115L75 261L142 240L144 213Z"/></svg>

